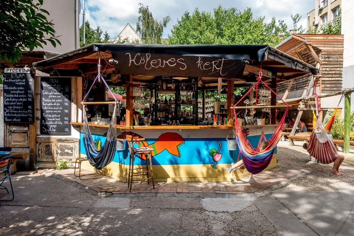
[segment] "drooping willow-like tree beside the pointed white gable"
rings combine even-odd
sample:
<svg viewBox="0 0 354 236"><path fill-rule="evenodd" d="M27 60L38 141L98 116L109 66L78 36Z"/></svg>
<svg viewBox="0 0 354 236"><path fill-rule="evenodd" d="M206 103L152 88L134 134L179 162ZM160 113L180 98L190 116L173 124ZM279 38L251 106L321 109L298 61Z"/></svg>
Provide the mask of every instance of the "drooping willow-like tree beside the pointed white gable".
<svg viewBox="0 0 354 236"><path fill-rule="evenodd" d="M136 31L140 34L143 44L162 44L162 33L164 28L171 21L170 16L165 16L159 21L154 19L148 6L139 4L138 21L136 22Z"/></svg>

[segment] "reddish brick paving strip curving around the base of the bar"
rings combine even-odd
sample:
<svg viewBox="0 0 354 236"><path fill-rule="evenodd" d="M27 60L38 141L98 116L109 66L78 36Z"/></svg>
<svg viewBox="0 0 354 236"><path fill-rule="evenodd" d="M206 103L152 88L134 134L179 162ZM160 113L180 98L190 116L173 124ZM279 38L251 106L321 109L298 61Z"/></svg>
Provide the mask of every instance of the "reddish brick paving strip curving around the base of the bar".
<svg viewBox="0 0 354 236"><path fill-rule="evenodd" d="M74 176L74 169L53 171L52 174L76 182L80 186L84 186L84 188L90 188L97 194L109 195L141 193L242 194L262 192L269 188L273 190L276 185L284 185L290 180L308 173L308 170L301 166L280 158L278 160L278 167L260 174L247 176L235 182L155 182L155 189L153 189L151 182L150 185L147 182L133 183L131 192L129 192L127 183L106 176L97 179L80 180L79 177ZM82 174L92 174L92 172L88 171L81 172Z"/></svg>

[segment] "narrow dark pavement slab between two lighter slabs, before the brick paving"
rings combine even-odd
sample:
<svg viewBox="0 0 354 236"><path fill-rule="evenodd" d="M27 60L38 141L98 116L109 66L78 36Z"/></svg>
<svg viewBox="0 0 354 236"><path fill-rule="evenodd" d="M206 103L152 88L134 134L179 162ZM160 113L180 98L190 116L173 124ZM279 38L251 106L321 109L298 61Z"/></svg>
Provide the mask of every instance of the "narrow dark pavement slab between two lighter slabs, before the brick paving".
<svg viewBox="0 0 354 236"><path fill-rule="evenodd" d="M201 198L194 197L132 197L131 207L200 209Z"/></svg>

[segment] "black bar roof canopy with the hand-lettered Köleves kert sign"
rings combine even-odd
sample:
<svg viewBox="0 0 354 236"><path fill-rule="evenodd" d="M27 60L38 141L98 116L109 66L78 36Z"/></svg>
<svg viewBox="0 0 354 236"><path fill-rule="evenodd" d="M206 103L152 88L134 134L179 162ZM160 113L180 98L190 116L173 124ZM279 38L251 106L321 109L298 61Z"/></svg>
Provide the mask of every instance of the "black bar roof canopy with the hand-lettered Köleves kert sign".
<svg viewBox="0 0 354 236"><path fill-rule="evenodd" d="M112 55L117 62L114 63L116 72L130 75L240 78L244 70L250 71L245 68L246 63L251 67L275 70L278 76L284 73L285 77L306 73L316 75L318 72L314 66L269 45L93 44L33 63L33 67L39 70L78 68L84 71L87 67L80 64L93 63L94 58L97 60L99 57L97 52ZM105 62L101 60L101 63Z"/></svg>

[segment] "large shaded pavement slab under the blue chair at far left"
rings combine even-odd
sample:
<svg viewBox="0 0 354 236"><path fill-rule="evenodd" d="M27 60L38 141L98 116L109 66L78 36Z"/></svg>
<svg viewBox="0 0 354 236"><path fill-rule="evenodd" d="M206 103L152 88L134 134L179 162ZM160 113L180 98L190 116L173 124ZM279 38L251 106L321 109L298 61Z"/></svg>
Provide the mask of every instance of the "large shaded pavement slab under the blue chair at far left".
<svg viewBox="0 0 354 236"><path fill-rule="evenodd" d="M15 199L1 205L90 207L99 198L58 179L40 175L14 175L11 180ZM10 187L8 182L4 185ZM0 190L0 199L8 197L6 190Z"/></svg>

